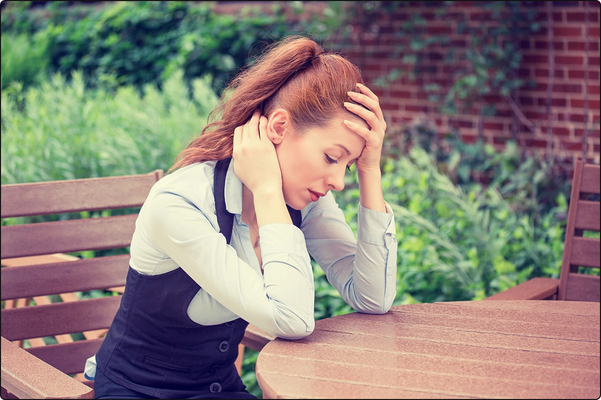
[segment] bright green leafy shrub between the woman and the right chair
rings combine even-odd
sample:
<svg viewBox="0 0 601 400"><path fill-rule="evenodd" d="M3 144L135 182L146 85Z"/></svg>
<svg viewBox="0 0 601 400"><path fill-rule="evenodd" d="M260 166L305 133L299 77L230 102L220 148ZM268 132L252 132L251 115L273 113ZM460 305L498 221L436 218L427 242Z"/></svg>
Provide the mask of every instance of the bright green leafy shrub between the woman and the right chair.
<svg viewBox="0 0 601 400"><path fill-rule="evenodd" d="M356 231L356 176L347 185L335 196ZM418 146L386 162L382 188L397 224L395 304L483 299L534 273L558 275L563 229L553 213L535 228L496 188L453 184ZM565 198L558 201L565 212Z"/></svg>

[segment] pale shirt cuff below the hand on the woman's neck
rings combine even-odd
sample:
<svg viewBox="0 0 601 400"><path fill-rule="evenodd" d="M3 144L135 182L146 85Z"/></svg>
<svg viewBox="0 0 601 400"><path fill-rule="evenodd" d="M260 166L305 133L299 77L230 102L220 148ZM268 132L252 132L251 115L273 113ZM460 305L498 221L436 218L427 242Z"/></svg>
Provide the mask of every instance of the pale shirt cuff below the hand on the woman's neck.
<svg viewBox="0 0 601 400"><path fill-rule="evenodd" d="M266 224L259 228L261 257L288 253L310 259L302 230L291 224Z"/></svg>

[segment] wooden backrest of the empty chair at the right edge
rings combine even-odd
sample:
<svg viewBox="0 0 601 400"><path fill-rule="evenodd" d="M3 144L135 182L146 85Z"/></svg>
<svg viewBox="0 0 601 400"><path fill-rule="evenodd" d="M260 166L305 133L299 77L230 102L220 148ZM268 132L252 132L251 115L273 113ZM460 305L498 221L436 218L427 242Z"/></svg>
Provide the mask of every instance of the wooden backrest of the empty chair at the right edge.
<svg viewBox="0 0 601 400"><path fill-rule="evenodd" d="M585 231L599 232L599 166L578 160L572 182L558 300L599 302L599 276L579 273L579 267L599 269L599 237L584 237Z"/></svg>

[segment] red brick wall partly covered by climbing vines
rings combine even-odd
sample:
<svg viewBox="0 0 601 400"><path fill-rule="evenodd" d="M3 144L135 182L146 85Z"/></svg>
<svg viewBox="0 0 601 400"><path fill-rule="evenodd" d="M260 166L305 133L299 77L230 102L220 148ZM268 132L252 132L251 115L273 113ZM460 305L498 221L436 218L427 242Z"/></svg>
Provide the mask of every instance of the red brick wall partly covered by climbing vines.
<svg viewBox="0 0 601 400"><path fill-rule="evenodd" d="M585 4L582 1L553 2L553 43L555 52L555 77L552 86L552 136L547 134L546 98L549 85L548 23L544 2L534 5L538 11L537 20L542 28L537 34L524 38L520 42L523 50L523 63L519 76L532 79L534 88L520 88L516 103L519 110L533 125L540 129L533 133L522 121L514 116L507 101L497 95L484 98L486 103L495 103L496 116L484 117L483 137L488 143L502 148L504 143L514 137L521 146L529 151L546 152L548 140L552 141L554 155L570 160L582 155L582 136L584 131L585 106ZM588 59L588 140L589 161L599 163L599 3L589 2L590 30ZM482 15L481 7L473 2L456 2L453 13L463 13L474 23L487 23L489 16ZM391 56L402 38L395 31L412 13L421 13L429 19L428 31L434 34L450 35L455 47L461 48L469 43L466 35L457 34L453 20L436 20L435 8L425 7L424 2L411 2L409 7L399 8L392 14L383 14L370 25L370 29L355 29L347 43L343 44L350 61L359 65L365 80L375 82L378 77L388 74L393 68L409 68L401 65L400 57ZM490 22L489 22L490 23ZM450 70L442 67L440 53L428 54L424 67L433 67L435 73L410 81L403 78L386 88L374 88L380 98L390 131L398 132L406 124L426 115L436 122L439 134L448 133L453 128L466 142L473 142L478 132L478 110L468 110L462 115L448 116L437 112L437 105L429 101L423 83L437 82L448 84ZM513 129L513 131L512 131Z"/></svg>

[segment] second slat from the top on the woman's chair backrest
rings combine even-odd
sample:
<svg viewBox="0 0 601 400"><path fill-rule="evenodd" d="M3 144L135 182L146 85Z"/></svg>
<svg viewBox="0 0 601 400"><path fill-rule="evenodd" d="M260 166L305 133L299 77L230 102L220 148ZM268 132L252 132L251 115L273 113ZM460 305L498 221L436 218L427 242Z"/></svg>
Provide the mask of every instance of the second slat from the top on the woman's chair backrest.
<svg viewBox="0 0 601 400"><path fill-rule="evenodd" d="M3 226L2 258L130 245L138 214Z"/></svg>

